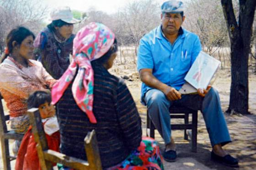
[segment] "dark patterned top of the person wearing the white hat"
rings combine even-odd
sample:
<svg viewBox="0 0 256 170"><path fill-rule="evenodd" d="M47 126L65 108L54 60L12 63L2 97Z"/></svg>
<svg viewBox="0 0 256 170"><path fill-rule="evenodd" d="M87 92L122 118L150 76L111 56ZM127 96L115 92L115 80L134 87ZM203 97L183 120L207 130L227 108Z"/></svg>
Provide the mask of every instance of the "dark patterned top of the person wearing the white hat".
<svg viewBox="0 0 256 170"><path fill-rule="evenodd" d="M60 41L51 30L45 28L34 41L36 59L42 62L46 71L56 80L69 67L74 37L72 34L68 39Z"/></svg>

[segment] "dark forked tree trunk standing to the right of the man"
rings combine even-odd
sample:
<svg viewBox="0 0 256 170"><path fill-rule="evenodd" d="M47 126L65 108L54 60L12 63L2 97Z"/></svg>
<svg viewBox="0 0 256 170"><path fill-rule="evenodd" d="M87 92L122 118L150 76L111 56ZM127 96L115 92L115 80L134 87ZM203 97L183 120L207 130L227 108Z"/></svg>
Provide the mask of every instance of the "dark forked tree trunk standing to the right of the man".
<svg viewBox="0 0 256 170"><path fill-rule="evenodd" d="M248 59L256 0L239 0L239 3L237 22L232 0L221 0L231 43L231 87L226 112L248 114Z"/></svg>

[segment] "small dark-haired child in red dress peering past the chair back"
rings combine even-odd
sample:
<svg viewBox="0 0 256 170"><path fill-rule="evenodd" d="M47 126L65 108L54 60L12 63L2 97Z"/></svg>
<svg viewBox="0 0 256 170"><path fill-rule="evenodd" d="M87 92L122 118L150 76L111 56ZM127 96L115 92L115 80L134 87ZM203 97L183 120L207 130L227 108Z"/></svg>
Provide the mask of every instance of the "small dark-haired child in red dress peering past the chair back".
<svg viewBox="0 0 256 170"><path fill-rule="evenodd" d="M38 108L42 118L43 129L48 143L48 149L59 152L60 134L59 124L55 116L55 108L51 105L51 94L47 91L35 91L28 100L28 109ZM37 143L30 126L25 133L17 154L15 170L41 170L37 156Z"/></svg>

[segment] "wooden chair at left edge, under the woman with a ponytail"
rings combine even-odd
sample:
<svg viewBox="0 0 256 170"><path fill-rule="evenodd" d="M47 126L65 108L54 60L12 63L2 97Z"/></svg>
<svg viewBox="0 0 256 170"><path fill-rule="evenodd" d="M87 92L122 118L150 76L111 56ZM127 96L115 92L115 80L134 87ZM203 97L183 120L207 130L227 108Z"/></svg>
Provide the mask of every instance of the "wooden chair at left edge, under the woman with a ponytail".
<svg viewBox="0 0 256 170"><path fill-rule="evenodd" d="M10 155L9 151L9 140L22 140L23 134L15 133L14 130L8 131L6 121L10 119L9 115L5 115L2 96L0 95L0 139L1 139L1 150L3 159L4 170L11 170L11 161L16 159L15 156Z"/></svg>

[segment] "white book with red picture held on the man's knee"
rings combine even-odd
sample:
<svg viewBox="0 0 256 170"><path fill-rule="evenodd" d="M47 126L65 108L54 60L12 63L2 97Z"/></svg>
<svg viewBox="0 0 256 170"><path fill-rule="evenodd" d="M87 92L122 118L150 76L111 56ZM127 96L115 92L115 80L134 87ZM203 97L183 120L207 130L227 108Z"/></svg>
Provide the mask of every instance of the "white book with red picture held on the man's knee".
<svg viewBox="0 0 256 170"><path fill-rule="evenodd" d="M179 90L181 94L196 93L199 88L206 89L219 68L219 65L219 60L201 51L187 72L185 77L187 83ZM190 87L190 85L192 85L192 87Z"/></svg>

